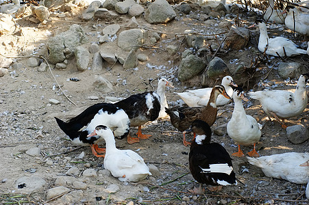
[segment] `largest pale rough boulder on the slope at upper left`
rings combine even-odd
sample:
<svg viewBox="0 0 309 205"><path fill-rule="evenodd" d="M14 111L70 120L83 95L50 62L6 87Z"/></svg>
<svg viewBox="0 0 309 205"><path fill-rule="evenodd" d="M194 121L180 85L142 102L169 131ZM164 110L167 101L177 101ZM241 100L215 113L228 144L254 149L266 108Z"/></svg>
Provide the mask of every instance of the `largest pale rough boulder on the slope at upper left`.
<svg viewBox="0 0 309 205"><path fill-rule="evenodd" d="M47 42L49 51L48 60L51 64L57 64L64 59L73 57L75 47L86 42L87 37L79 25L71 25L68 31L60 33Z"/></svg>

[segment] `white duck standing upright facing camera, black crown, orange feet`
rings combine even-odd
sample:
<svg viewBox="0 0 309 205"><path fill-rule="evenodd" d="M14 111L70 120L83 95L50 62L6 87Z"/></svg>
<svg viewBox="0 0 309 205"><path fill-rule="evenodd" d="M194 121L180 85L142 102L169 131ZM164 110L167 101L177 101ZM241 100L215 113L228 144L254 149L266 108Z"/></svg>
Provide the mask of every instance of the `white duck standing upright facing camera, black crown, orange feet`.
<svg viewBox="0 0 309 205"><path fill-rule="evenodd" d="M254 150L248 152L249 156L259 156L256 152L256 142L260 140L261 131L258 122L250 115L246 115L241 100L246 100L244 92L240 87L236 87L233 94L234 111L231 120L227 123L227 134L238 143L238 152L232 156L244 156L240 150L240 145L249 146L254 144Z"/></svg>

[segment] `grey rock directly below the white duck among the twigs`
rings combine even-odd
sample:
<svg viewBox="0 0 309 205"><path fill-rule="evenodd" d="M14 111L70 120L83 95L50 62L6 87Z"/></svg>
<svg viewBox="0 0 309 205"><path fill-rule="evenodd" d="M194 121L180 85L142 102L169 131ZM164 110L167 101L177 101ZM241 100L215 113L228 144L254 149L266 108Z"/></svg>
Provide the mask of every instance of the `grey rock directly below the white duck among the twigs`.
<svg viewBox="0 0 309 205"><path fill-rule="evenodd" d="M294 79L295 77L298 78L302 73L306 72L306 68L304 65L299 64L297 62L289 62L284 63L280 62L278 67L278 74L280 77L284 79Z"/></svg>

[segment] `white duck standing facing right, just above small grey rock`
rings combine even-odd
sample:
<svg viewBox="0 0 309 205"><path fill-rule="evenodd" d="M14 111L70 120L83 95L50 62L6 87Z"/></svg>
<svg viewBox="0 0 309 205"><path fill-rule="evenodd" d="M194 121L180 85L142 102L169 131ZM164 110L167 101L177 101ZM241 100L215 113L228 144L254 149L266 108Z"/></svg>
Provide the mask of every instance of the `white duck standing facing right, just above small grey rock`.
<svg viewBox="0 0 309 205"><path fill-rule="evenodd" d="M262 90L248 92L248 94L251 98L260 101L267 115L275 117L282 124L282 128L286 128L284 119L295 117L306 108L308 102L306 79L308 78L308 74L299 77L295 92L287 90ZM282 118L282 121L279 118Z"/></svg>

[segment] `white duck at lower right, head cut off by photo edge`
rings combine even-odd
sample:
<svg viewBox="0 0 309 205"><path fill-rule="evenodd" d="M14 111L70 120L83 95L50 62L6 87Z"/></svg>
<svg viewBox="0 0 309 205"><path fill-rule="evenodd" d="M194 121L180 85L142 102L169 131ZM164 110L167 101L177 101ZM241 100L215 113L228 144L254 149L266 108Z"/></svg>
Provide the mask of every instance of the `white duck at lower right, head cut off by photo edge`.
<svg viewBox="0 0 309 205"><path fill-rule="evenodd" d="M286 152L258 158L247 157L251 165L260 167L265 176L288 180L296 184L309 181L309 152Z"/></svg>

